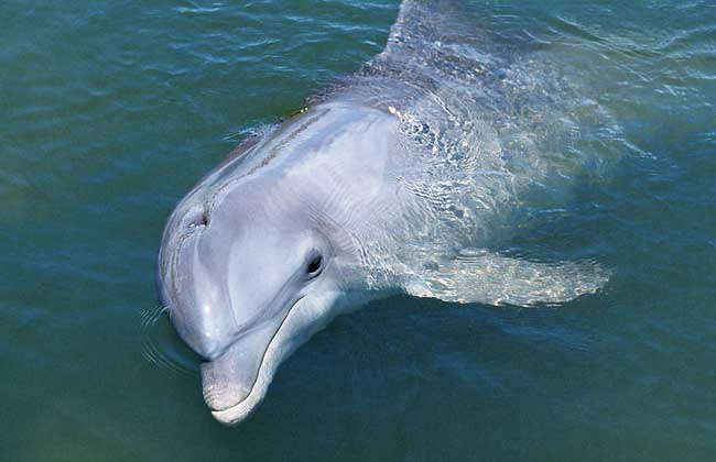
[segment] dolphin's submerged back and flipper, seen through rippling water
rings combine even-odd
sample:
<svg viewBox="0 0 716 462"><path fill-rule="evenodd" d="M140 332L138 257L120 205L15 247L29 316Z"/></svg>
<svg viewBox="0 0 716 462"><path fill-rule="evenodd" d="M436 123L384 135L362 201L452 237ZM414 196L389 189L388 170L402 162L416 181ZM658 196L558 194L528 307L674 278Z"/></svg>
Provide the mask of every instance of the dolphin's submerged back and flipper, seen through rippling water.
<svg viewBox="0 0 716 462"><path fill-rule="evenodd" d="M571 66L547 47L491 30L463 2L403 1L384 51L347 92L399 120L403 148L391 165L398 196L415 206L402 227L386 230L383 242L395 250L383 265L410 275L406 292L534 305L606 283L595 262L499 252L510 229L535 210L564 207L575 179L598 178L614 162L593 143L595 133L619 128Z"/></svg>

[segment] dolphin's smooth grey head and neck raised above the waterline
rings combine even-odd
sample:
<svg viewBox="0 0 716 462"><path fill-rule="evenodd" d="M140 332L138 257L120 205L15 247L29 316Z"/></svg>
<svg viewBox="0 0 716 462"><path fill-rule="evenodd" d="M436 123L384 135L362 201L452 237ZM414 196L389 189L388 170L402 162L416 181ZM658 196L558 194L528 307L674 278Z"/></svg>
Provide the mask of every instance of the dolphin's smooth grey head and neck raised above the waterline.
<svg viewBox="0 0 716 462"><path fill-rule="evenodd" d="M392 198L395 133L384 111L317 106L210 173L170 217L160 295L205 360L204 398L219 421L247 417L293 350L379 296L360 230L379 229L377 198Z"/></svg>

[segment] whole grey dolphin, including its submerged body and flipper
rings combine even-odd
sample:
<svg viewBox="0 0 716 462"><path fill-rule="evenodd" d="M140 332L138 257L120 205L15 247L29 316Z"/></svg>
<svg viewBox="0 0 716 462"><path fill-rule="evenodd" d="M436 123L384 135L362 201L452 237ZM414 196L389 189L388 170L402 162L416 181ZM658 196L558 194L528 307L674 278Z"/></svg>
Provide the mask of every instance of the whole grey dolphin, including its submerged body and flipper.
<svg viewBox="0 0 716 462"><path fill-rule="evenodd" d="M214 417L243 420L283 360L369 300L597 292L595 262L488 250L520 204L566 195L589 162L554 148L585 105L558 80L452 3L406 1L381 54L206 176L166 223L158 277Z"/></svg>

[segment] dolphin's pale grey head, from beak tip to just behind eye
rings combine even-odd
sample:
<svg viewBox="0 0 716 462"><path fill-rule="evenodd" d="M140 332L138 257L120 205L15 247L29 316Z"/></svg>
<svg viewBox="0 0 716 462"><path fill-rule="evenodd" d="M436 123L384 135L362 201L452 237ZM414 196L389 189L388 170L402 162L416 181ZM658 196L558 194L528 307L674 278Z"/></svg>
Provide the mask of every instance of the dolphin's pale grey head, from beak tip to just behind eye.
<svg viewBox="0 0 716 462"><path fill-rule="evenodd" d="M337 314L344 251L282 195L260 182L200 185L162 240L162 301L205 360L204 398L227 425L258 406L282 360Z"/></svg>

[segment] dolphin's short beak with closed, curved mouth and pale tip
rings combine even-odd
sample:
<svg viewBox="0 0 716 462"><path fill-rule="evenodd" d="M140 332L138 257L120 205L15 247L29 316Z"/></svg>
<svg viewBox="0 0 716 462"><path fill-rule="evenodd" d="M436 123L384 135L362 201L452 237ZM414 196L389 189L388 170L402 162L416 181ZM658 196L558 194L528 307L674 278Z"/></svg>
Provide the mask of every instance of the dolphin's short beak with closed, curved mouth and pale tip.
<svg viewBox="0 0 716 462"><path fill-rule="evenodd" d="M286 310L278 328L249 332L220 356L200 365L204 400L217 421L236 425L261 403L281 360L279 332L302 299Z"/></svg>

